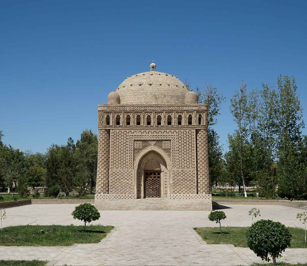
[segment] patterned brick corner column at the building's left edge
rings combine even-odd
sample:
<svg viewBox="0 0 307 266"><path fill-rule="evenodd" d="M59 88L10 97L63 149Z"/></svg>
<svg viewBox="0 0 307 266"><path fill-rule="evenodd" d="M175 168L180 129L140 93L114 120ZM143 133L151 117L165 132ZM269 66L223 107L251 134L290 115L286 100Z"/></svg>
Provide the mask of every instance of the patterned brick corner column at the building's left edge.
<svg viewBox="0 0 307 266"><path fill-rule="evenodd" d="M110 130L99 129L96 195L109 193Z"/></svg>

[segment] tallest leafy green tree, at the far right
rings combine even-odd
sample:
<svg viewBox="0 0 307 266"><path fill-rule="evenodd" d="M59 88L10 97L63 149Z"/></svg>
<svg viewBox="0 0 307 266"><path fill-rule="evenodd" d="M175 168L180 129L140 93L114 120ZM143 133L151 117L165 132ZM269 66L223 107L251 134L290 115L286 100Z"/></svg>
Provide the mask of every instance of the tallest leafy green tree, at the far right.
<svg viewBox="0 0 307 266"><path fill-rule="evenodd" d="M278 194L288 198L307 198L307 171L299 160L301 146L302 108L294 77L278 76L276 146L278 157Z"/></svg>

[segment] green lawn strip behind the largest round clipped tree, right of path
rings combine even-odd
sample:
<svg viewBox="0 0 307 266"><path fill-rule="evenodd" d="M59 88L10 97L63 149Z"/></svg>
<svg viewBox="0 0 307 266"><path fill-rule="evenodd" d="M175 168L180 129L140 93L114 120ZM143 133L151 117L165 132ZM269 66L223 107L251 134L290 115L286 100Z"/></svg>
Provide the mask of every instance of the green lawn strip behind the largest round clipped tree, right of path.
<svg viewBox="0 0 307 266"><path fill-rule="evenodd" d="M249 227L198 227L194 230L207 244L233 244L235 247L246 247L246 232ZM307 248L305 231L302 228L287 227L292 234L291 248Z"/></svg>

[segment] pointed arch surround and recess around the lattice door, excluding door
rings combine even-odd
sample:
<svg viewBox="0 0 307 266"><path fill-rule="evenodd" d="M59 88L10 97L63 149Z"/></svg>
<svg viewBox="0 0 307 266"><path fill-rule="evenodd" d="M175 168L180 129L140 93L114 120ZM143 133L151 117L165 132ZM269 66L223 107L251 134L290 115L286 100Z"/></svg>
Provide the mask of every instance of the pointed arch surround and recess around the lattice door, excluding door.
<svg viewBox="0 0 307 266"><path fill-rule="evenodd" d="M154 168L154 169L146 169ZM134 161L134 194L138 199L143 199L145 195L145 171L161 171L161 197L170 194L172 163L167 154L155 146L150 146L138 154Z"/></svg>

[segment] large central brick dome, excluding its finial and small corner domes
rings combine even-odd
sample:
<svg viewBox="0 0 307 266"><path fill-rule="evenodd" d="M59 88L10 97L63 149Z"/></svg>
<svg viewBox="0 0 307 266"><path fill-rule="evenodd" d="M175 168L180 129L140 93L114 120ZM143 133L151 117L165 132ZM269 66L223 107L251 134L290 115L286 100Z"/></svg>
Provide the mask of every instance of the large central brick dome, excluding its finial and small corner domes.
<svg viewBox="0 0 307 266"><path fill-rule="evenodd" d="M153 70L127 77L116 92L121 104L185 104L187 89L179 78Z"/></svg>

